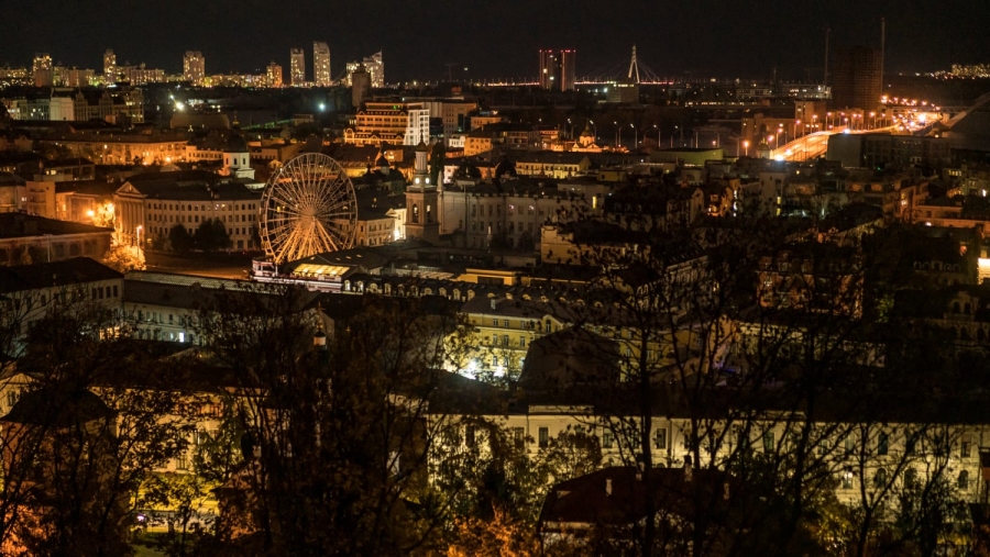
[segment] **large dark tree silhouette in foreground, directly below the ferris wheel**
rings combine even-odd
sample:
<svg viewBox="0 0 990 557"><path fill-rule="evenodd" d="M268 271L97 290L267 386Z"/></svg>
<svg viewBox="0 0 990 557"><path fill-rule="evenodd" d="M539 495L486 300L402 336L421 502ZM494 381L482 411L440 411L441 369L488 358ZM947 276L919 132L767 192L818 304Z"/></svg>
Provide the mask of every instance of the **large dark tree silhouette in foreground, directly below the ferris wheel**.
<svg viewBox="0 0 990 557"><path fill-rule="evenodd" d="M427 483L442 426L427 410L458 320L441 300L365 296L319 350L310 296L230 292L201 313L202 334L242 380L235 414L251 447L235 476L246 512L222 520L283 554L430 547L447 502Z"/></svg>

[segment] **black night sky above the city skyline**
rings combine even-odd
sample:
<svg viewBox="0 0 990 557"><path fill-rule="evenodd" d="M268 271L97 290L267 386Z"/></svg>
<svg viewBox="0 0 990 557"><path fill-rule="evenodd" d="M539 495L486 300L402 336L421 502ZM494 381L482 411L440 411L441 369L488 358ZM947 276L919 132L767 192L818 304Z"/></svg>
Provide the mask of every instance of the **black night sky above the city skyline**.
<svg viewBox="0 0 990 557"><path fill-rule="evenodd" d="M888 71L990 63L987 0L31 0L0 23L0 66L30 66L34 52L56 64L100 69L146 63L179 73L187 49L207 73L288 73L288 49L330 45L332 73L383 51L388 81L436 79L446 63L471 78L535 77L537 49L576 48L578 75L639 58L660 76L821 76L825 29L832 44L880 44L887 16Z"/></svg>

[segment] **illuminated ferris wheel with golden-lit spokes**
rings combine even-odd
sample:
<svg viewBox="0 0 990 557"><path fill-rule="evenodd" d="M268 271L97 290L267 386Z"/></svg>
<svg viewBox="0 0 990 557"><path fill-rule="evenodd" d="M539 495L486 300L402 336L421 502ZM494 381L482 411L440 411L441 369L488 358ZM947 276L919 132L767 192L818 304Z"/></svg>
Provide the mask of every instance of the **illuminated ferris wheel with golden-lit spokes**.
<svg viewBox="0 0 990 557"><path fill-rule="evenodd" d="M358 233L354 186L327 155L299 155L268 179L260 221L262 246L275 263L349 249Z"/></svg>

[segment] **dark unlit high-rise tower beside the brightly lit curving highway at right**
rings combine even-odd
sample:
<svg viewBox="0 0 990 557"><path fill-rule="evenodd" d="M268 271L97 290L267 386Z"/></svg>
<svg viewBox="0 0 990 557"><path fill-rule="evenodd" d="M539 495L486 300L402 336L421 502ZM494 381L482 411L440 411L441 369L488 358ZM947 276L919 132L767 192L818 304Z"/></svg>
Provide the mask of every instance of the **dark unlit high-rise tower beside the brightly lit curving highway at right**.
<svg viewBox="0 0 990 557"><path fill-rule="evenodd" d="M883 54L870 46L837 48L832 59L834 109L873 110L880 103Z"/></svg>

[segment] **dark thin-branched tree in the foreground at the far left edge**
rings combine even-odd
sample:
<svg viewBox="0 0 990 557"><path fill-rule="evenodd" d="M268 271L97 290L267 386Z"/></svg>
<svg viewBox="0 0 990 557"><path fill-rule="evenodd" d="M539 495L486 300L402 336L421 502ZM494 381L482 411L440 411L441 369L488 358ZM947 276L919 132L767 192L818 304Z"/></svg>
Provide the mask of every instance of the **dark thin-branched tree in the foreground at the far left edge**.
<svg viewBox="0 0 990 557"><path fill-rule="evenodd" d="M4 553L125 552L134 490L184 449L197 408L163 372L183 363L129 336L116 313L70 289L32 319L4 386L7 400L20 397L2 431Z"/></svg>

